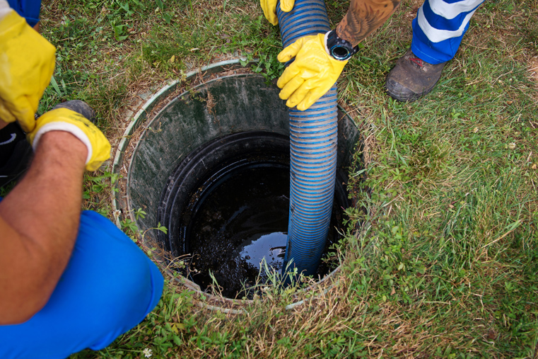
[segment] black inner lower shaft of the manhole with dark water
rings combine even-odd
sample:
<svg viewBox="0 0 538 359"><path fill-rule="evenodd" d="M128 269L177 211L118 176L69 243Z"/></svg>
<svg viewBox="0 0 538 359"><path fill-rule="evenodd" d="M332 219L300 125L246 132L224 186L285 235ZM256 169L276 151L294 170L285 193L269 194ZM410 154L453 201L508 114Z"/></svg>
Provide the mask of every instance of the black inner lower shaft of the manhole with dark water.
<svg viewBox="0 0 538 359"><path fill-rule="evenodd" d="M228 135L187 155L170 176L158 211L169 228L159 240L182 258L182 275L201 290L218 285L224 297L263 294L264 284L280 273L286 249L289 161L288 137L271 132ZM349 205L345 179L337 179L319 278L337 266L331 248L344 232Z"/></svg>

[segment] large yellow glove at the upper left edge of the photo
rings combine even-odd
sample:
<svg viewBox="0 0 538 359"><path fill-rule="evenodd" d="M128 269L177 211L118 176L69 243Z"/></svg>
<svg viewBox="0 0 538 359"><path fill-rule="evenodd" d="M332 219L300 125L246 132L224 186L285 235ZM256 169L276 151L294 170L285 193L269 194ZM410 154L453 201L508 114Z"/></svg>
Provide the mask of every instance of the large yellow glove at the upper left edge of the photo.
<svg viewBox="0 0 538 359"><path fill-rule="evenodd" d="M37 105L54 71L55 51L15 11L0 21L1 120L18 120L25 132L34 129Z"/></svg>

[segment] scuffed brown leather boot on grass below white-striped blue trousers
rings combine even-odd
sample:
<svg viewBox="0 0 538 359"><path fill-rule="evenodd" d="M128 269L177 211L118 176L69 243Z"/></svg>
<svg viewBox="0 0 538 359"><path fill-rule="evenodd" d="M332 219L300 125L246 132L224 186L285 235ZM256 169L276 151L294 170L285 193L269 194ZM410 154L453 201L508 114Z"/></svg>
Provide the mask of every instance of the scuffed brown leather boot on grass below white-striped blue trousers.
<svg viewBox="0 0 538 359"><path fill-rule="evenodd" d="M387 93L397 101L416 101L433 90L445 64L428 64L409 49L390 70L385 82Z"/></svg>

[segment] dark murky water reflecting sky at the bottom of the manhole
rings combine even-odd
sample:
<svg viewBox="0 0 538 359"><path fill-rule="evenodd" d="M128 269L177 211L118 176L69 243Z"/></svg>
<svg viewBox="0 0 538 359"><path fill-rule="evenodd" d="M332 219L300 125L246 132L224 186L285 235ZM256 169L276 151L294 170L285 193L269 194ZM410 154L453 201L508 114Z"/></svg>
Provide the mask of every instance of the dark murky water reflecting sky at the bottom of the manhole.
<svg viewBox="0 0 538 359"><path fill-rule="evenodd" d="M257 164L219 182L201 198L187 230L195 268L190 275L206 289L213 283L211 272L225 297L250 297L252 287L267 280L262 260L269 268L282 268L289 167Z"/></svg>

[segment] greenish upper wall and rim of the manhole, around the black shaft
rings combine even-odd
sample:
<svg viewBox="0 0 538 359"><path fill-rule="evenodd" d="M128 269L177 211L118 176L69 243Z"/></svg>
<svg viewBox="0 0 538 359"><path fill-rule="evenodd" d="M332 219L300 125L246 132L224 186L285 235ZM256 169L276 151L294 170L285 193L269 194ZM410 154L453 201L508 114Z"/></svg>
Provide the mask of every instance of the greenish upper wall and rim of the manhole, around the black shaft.
<svg viewBox="0 0 538 359"><path fill-rule="evenodd" d="M255 76L257 79L254 78ZM218 81L235 81L235 88L239 89L235 97L231 93L228 93L229 96L223 95L225 102L228 98L233 98L228 107L233 106L237 110L237 108L242 108L245 102L252 101L261 103L262 110L255 109L254 112L246 110L248 112L246 115L230 116L226 110L220 110L218 106L214 110L216 106L214 101L219 101L221 98L209 97L204 103L194 106L194 111L198 116L194 122L199 122L197 125L192 125L192 121L176 120L178 116L170 115L170 111L167 113L170 103L182 101L182 96L187 96L196 89L218 84ZM131 119L119 142L112 164L112 172L122 174L123 177L118 183L118 191L113 193L112 207L116 224L119 227L119 213L124 217L128 216L136 222L141 231L146 232L144 242L150 248L156 246L155 237L149 229L156 227L158 223L158 200L170 173L183 156L202 143L228 133L267 130L286 134L288 131L288 128L286 129L287 109L283 101L278 99L278 89L274 89L276 86L267 84L262 76L241 67L240 59L218 62L187 74L187 83L194 84L195 82L198 84L185 88L181 87L183 82L175 81L151 96ZM254 86L255 89L248 86ZM261 93L261 95L255 99L249 98L252 93ZM179 117L181 118L182 115ZM183 117L189 118L189 115ZM238 120L235 117L241 119ZM342 169L351 166L358 139L359 133L353 120L345 113L339 113L339 162ZM173 151L167 150L165 147L170 147L172 143L179 147ZM151 144L151 151L144 152L144 148L149 148L148 144ZM144 175L139 174L140 169L144 169ZM135 218L134 210L137 208L142 208L146 212L144 219ZM178 276L177 272L171 270L168 267L167 258L157 256L157 261L160 262L161 269L168 273L176 283L197 292L197 297L200 298L197 304L202 307L217 309L221 312L240 313L245 312L245 308L252 304L251 300L232 300L203 292L199 285ZM303 291L327 292L334 285L339 269L339 267L336 268L315 285ZM301 302L291 303L286 308L292 309L299 304Z"/></svg>

